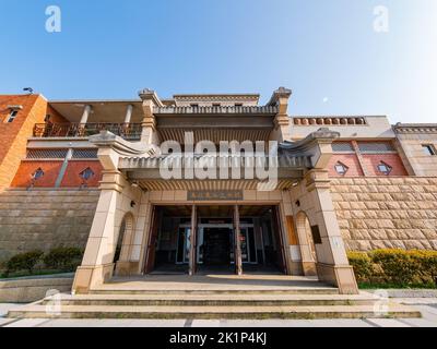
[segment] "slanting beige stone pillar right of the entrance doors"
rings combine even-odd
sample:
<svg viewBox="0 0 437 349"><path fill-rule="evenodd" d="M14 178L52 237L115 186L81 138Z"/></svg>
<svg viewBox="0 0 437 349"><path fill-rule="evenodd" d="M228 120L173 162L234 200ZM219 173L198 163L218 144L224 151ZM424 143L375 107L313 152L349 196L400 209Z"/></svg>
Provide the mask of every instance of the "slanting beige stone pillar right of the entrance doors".
<svg viewBox="0 0 437 349"><path fill-rule="evenodd" d="M358 293L354 270L349 264L332 204L328 171L310 170L306 173L305 181L306 200L314 207L310 213L310 221L311 229L315 230L312 236L318 260L318 277L321 281L339 287L340 292L343 294ZM319 237L317 237L318 233L320 234Z"/></svg>

